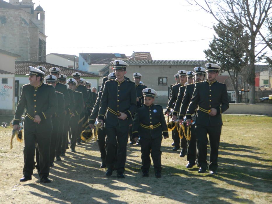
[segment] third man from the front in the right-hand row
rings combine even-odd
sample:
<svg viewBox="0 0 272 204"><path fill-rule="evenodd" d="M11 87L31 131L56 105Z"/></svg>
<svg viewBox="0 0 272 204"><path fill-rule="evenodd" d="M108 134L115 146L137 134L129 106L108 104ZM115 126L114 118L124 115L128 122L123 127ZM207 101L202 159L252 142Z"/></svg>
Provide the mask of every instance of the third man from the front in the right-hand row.
<svg viewBox="0 0 272 204"><path fill-rule="evenodd" d="M183 70L184 72L185 70ZM173 120L176 120L177 119L177 116L178 114L185 114L184 113L180 113L180 105L181 105L181 102L182 102L182 98L183 98L183 95L184 95L184 92L185 92L185 84L186 83L189 83L191 84L193 82L192 80L192 77L193 77L193 71L189 71L189 72L186 72L185 74L181 75L181 79L180 81L185 81L185 76L187 78L187 82L184 83L184 86L181 86L179 87L179 91L178 91L178 97L177 97L177 100L176 100L176 103L175 103L175 107L174 107L174 110L173 110L173 117L172 119ZM180 157L184 157L186 152L187 152L187 140L185 138L185 136L183 135L183 133L181 134L182 135L182 139L180 140L180 146L181 146L181 151L180 151Z"/></svg>

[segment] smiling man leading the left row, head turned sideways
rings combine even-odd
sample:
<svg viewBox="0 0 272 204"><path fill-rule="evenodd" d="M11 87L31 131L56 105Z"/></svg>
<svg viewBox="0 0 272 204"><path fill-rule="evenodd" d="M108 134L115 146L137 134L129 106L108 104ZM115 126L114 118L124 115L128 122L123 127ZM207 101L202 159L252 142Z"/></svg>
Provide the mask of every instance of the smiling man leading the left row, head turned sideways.
<svg viewBox="0 0 272 204"><path fill-rule="evenodd" d="M26 108L24 118L24 177L21 182L31 180L34 166L36 142L40 152L38 172L41 182L50 182L50 136L52 132L51 115L57 112L57 95L55 88L43 84L45 73L34 67L29 67L29 84L22 87L22 93L15 110L13 129L19 129L20 118Z"/></svg>

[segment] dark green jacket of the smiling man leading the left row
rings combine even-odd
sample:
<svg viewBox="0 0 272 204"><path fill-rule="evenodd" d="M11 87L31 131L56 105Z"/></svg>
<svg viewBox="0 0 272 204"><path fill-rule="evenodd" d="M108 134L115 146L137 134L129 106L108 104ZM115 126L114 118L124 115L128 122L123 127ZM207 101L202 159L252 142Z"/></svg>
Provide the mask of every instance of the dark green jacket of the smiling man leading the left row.
<svg viewBox="0 0 272 204"><path fill-rule="evenodd" d="M54 86L41 83L38 87L26 84L15 110L13 124L19 124L20 118L26 108L27 116L24 118L24 130L38 133L52 131L51 116L58 111L57 95ZM41 118L40 124L34 123L35 115Z"/></svg>

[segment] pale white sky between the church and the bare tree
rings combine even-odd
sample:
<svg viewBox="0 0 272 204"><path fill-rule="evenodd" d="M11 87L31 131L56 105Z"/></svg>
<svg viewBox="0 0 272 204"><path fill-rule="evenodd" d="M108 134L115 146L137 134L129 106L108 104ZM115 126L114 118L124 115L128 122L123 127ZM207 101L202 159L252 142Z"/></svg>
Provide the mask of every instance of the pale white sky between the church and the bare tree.
<svg viewBox="0 0 272 204"><path fill-rule="evenodd" d="M8 0L5 0L8 1ZM150 52L154 60L205 60L212 15L185 0L33 0L45 11L47 54Z"/></svg>

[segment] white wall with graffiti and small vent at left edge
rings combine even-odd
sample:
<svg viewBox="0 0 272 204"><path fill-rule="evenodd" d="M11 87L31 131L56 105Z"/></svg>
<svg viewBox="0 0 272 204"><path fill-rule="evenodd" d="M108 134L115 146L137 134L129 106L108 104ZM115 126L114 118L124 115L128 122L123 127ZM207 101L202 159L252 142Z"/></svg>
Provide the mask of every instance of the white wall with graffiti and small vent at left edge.
<svg viewBox="0 0 272 204"><path fill-rule="evenodd" d="M8 83L2 84L2 78ZM13 110L14 107L14 74L0 74L0 109Z"/></svg>

